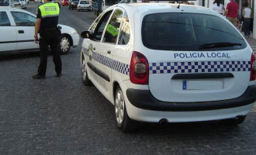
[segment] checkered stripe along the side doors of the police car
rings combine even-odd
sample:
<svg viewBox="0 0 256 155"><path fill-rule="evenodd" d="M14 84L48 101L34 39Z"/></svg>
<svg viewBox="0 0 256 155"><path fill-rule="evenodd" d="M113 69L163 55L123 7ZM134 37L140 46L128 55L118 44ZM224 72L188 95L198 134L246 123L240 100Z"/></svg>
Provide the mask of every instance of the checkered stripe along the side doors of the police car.
<svg viewBox="0 0 256 155"><path fill-rule="evenodd" d="M89 56L89 51L85 50L85 54ZM99 62L100 64L105 65L106 67L110 67L115 71L118 71L122 74L129 74L130 71L130 65L129 64L123 64L117 60L112 60L109 57L102 56L99 53L92 52L92 59Z"/></svg>

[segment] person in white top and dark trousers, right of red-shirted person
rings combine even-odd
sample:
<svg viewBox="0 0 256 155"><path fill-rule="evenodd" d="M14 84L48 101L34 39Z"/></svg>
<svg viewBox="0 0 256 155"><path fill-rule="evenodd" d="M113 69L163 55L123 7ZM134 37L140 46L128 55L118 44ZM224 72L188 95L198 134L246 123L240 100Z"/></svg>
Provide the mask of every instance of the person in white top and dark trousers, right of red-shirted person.
<svg viewBox="0 0 256 155"><path fill-rule="evenodd" d="M250 38L250 24L251 24L251 9L248 8L248 3L245 2L243 4L243 12L242 15L244 17L244 22L243 22L243 26L244 26L244 36L246 38Z"/></svg>

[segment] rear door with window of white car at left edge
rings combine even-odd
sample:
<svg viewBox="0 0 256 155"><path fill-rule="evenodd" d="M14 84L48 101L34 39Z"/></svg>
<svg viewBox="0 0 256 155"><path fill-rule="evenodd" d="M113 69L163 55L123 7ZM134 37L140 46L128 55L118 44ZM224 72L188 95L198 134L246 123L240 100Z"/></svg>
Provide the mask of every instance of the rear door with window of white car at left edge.
<svg viewBox="0 0 256 155"><path fill-rule="evenodd" d="M11 25L7 12L0 12L0 52L16 50L16 28Z"/></svg>

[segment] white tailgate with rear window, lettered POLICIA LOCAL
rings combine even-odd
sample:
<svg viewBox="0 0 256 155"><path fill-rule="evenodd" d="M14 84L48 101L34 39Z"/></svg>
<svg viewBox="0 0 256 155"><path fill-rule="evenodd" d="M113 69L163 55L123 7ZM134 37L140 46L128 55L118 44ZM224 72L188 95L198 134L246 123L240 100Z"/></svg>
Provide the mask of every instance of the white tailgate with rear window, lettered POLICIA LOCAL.
<svg viewBox="0 0 256 155"><path fill-rule="evenodd" d="M225 100L247 89L250 47L237 29L218 16L146 15L142 42L150 65L150 92L161 101Z"/></svg>

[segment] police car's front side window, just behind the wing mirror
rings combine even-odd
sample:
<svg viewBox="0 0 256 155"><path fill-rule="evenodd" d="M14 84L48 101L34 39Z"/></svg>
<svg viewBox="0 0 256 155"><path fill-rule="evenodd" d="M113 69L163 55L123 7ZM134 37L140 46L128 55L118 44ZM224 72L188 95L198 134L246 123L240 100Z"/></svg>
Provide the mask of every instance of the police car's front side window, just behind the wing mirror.
<svg viewBox="0 0 256 155"><path fill-rule="evenodd" d="M92 26L92 30L94 30L94 40L100 41L102 38L102 33L104 31L104 28L106 26L106 23L109 20L109 16L111 15L112 11L106 12L104 15L102 15L102 18L99 20L99 23L97 25Z"/></svg>

